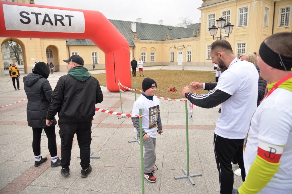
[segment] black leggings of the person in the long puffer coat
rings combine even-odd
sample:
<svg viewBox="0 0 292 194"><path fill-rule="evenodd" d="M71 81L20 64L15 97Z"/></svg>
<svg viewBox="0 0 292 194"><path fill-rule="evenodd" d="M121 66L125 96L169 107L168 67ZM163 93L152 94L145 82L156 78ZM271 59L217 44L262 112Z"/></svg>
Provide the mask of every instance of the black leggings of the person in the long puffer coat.
<svg viewBox="0 0 292 194"><path fill-rule="evenodd" d="M41 132L43 128L32 128L34 138L32 140L32 150L35 156L41 155ZM57 156L57 143L56 143L56 133L55 126L46 127L44 131L48 138L48 149L51 157Z"/></svg>

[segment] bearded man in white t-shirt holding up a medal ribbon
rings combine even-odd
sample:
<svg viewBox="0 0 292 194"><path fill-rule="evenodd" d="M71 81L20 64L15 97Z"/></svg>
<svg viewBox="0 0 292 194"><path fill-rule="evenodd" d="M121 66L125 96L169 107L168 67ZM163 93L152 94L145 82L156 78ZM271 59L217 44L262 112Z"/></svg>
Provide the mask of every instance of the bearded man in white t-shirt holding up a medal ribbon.
<svg viewBox="0 0 292 194"><path fill-rule="evenodd" d="M190 93L186 86L182 95L194 105L213 108L221 104L220 117L216 122L214 152L219 171L220 193L230 194L233 187L231 161L235 158L241 168L244 181L245 171L242 147L251 117L256 110L258 99L258 71L253 63L238 59L226 40L217 40L210 49L212 63L222 69L218 83L192 82L192 89L209 90L197 95Z"/></svg>

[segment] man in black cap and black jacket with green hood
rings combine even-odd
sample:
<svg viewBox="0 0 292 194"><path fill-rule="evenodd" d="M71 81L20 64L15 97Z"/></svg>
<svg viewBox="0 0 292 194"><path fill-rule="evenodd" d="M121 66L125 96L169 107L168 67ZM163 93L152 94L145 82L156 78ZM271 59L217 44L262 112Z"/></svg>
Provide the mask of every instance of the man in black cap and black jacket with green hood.
<svg viewBox="0 0 292 194"><path fill-rule="evenodd" d="M71 149L74 134L80 148L81 177L86 178L92 171L90 166L91 121L95 115L95 104L102 102L103 94L98 80L83 67L79 55L68 60L68 74L61 76L51 96L52 101L46 116L50 125L58 113L60 123L62 170L61 175L70 175Z"/></svg>

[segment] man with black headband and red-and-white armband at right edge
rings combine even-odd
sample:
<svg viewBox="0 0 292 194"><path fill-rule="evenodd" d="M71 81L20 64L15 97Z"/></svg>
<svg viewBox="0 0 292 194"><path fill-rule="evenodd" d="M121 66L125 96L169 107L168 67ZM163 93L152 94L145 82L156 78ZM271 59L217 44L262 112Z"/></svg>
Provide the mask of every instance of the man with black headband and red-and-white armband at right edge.
<svg viewBox="0 0 292 194"><path fill-rule="evenodd" d="M238 193L292 191L292 33L276 33L261 44L260 76L270 93L254 113L244 140L246 181Z"/></svg>

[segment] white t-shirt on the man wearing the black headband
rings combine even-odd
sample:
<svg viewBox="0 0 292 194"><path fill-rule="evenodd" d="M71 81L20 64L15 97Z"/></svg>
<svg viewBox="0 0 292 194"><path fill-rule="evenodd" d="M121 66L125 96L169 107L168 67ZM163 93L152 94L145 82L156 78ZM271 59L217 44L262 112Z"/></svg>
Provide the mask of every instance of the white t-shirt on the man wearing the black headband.
<svg viewBox="0 0 292 194"><path fill-rule="evenodd" d="M280 168L262 193L276 193L277 189L292 191L292 92L277 88L258 106L244 141L243 152L246 176L258 153L259 140L285 145ZM276 190L272 190L275 188ZM277 192L279 193L279 192ZM280 192L281 193L281 192ZM284 192L286 193L286 192ZM288 192L289 193L289 192Z"/></svg>

